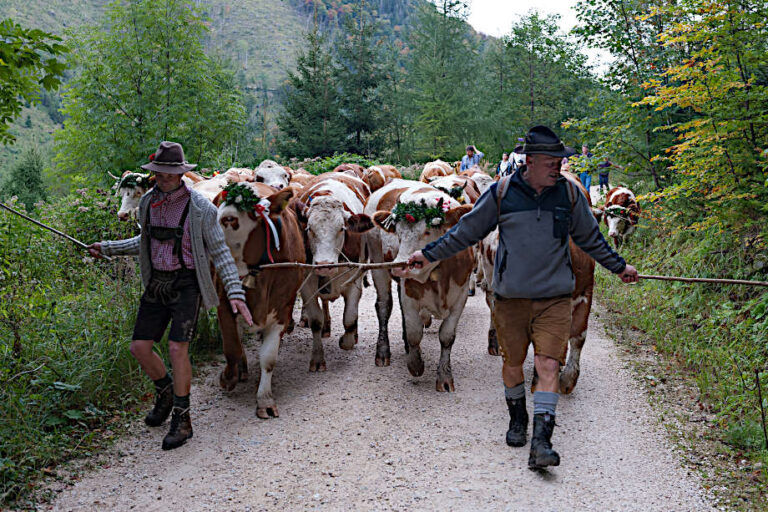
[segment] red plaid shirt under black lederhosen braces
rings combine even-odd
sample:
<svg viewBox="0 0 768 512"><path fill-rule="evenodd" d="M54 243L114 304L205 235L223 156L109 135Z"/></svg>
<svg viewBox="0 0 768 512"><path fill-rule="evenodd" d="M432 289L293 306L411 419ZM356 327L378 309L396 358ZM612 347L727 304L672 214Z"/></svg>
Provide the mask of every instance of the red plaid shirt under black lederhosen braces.
<svg viewBox="0 0 768 512"><path fill-rule="evenodd" d="M157 187L153 189L149 208L150 224L166 228L175 228L181 221L181 214L189 202L189 189L182 183L179 188L168 194L161 192ZM173 254L175 240L152 239L152 268L157 270L178 270L181 268L179 260ZM195 268L195 259L192 257L192 239L189 236L189 217L184 221L184 236L181 238L181 255L184 258L184 266Z"/></svg>

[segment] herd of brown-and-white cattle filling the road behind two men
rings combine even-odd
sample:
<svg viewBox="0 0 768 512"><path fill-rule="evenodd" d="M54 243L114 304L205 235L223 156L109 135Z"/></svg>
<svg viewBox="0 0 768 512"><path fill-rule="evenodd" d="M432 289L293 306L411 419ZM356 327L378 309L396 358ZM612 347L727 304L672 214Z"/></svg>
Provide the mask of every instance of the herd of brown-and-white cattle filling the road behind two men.
<svg viewBox="0 0 768 512"><path fill-rule="evenodd" d="M563 175L580 187L578 179ZM127 220L135 215L138 201L152 186L152 178L126 171L117 178L117 196L122 198L118 216ZM298 169L265 160L256 169L232 168L205 178L189 172L183 180L193 190L206 196L219 209L219 222L237 265L254 327L260 335L261 379L257 391L257 411L261 418L278 416L272 396L271 378L277 363L280 340L294 328L293 309L297 295L302 299L301 325L312 331L310 371L325 370L323 338L330 336L331 319L328 303L344 299L344 334L339 338L342 349L353 349L358 341L358 304L365 271L355 267L263 269L268 263L298 262L316 265L359 262L404 262L416 250L436 240L459 219L472 210L472 205L490 188L494 178L474 167L457 173L455 166L437 160L424 166L419 181L402 179L391 165L363 168L342 164L332 172L312 175ZM232 184L236 184L234 187ZM239 188L244 187L244 188ZM227 192L225 192L227 188ZM259 211L245 211L238 201L225 200L227 193L248 189L260 200ZM580 187L581 189L581 187ZM589 199L585 190L581 189ZM252 196L250 196L252 197ZM230 197L231 199L231 197ZM439 218L407 221L393 213L399 206L420 205L438 208ZM612 189L602 209L609 234L620 244L634 230L639 209L632 192L625 187ZM441 346L437 366L436 388L453 391L451 347L468 294L474 293L474 282L485 291L492 309L494 259L498 230L476 247L447 260L411 269L370 270L376 289L376 315L379 322L375 364L388 366L391 351L387 325L392 314L392 281L397 282L403 341L407 367L414 376L424 373L420 342L424 328L433 319L442 320L439 329ZM595 262L571 242L576 289L573 294L573 321L570 350L566 366L560 374L560 388L570 393L579 377L579 359L584 346L592 303ZM212 270L213 272L213 270ZM216 281L216 279L214 279ZM224 290L217 284L222 299ZM237 322L228 301L222 300L217 313L223 339L226 367L220 384L231 390L248 378L248 363L243 349L243 325ZM498 343L491 323L488 352L498 355Z"/></svg>

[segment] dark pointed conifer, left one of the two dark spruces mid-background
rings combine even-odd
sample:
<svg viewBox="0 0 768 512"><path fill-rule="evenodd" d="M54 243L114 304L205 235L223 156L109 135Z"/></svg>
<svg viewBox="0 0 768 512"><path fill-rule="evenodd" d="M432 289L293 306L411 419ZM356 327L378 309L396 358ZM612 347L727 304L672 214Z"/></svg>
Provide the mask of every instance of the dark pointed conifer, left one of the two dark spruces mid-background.
<svg viewBox="0 0 768 512"><path fill-rule="evenodd" d="M283 112L277 119L285 156L330 156L344 147L344 123L331 55L318 29L307 33L307 46L289 73Z"/></svg>

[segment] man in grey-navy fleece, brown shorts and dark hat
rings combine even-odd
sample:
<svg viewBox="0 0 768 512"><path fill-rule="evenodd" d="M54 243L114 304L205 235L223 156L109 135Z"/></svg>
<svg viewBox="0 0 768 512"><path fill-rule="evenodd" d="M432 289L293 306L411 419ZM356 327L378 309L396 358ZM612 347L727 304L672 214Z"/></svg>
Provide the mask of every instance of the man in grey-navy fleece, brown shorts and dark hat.
<svg viewBox="0 0 768 512"><path fill-rule="evenodd" d="M551 439L575 284L568 237L625 283L636 282L637 271L611 249L584 195L561 176L560 163L569 151L558 136L535 126L518 152L525 154L526 170L491 185L456 226L413 253L408 262L419 266L449 258L499 227L493 321L504 356L502 378L510 415L506 441L510 446L527 441L523 362L533 343L539 381L533 395L528 465L542 468L560 464Z"/></svg>

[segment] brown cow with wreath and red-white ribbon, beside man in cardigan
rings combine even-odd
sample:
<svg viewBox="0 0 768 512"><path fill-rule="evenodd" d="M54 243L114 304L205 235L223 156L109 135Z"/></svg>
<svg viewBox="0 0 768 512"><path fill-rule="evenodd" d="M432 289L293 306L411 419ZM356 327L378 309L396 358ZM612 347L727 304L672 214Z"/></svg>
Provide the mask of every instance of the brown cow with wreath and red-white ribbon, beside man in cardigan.
<svg viewBox="0 0 768 512"><path fill-rule="evenodd" d="M241 197L245 198L248 192L250 202L254 204L249 204L248 199L237 200L236 194L242 193ZM250 329L262 339L256 415L263 419L279 416L272 396L272 372L277 364L280 340L291 325L303 271L299 268L260 267L272 262L306 261L304 240L295 209L289 206L292 197L291 187L275 191L263 183L240 182L222 191L214 200L214 204L218 205L218 220L224 238L243 280L246 303L253 316L254 327ZM250 207L250 210L246 211L242 204L246 208ZM248 361L237 317L232 313L220 281L217 281L217 290L220 298L217 314L226 359L226 367L219 375L219 384L231 391L238 382L247 380Z"/></svg>

